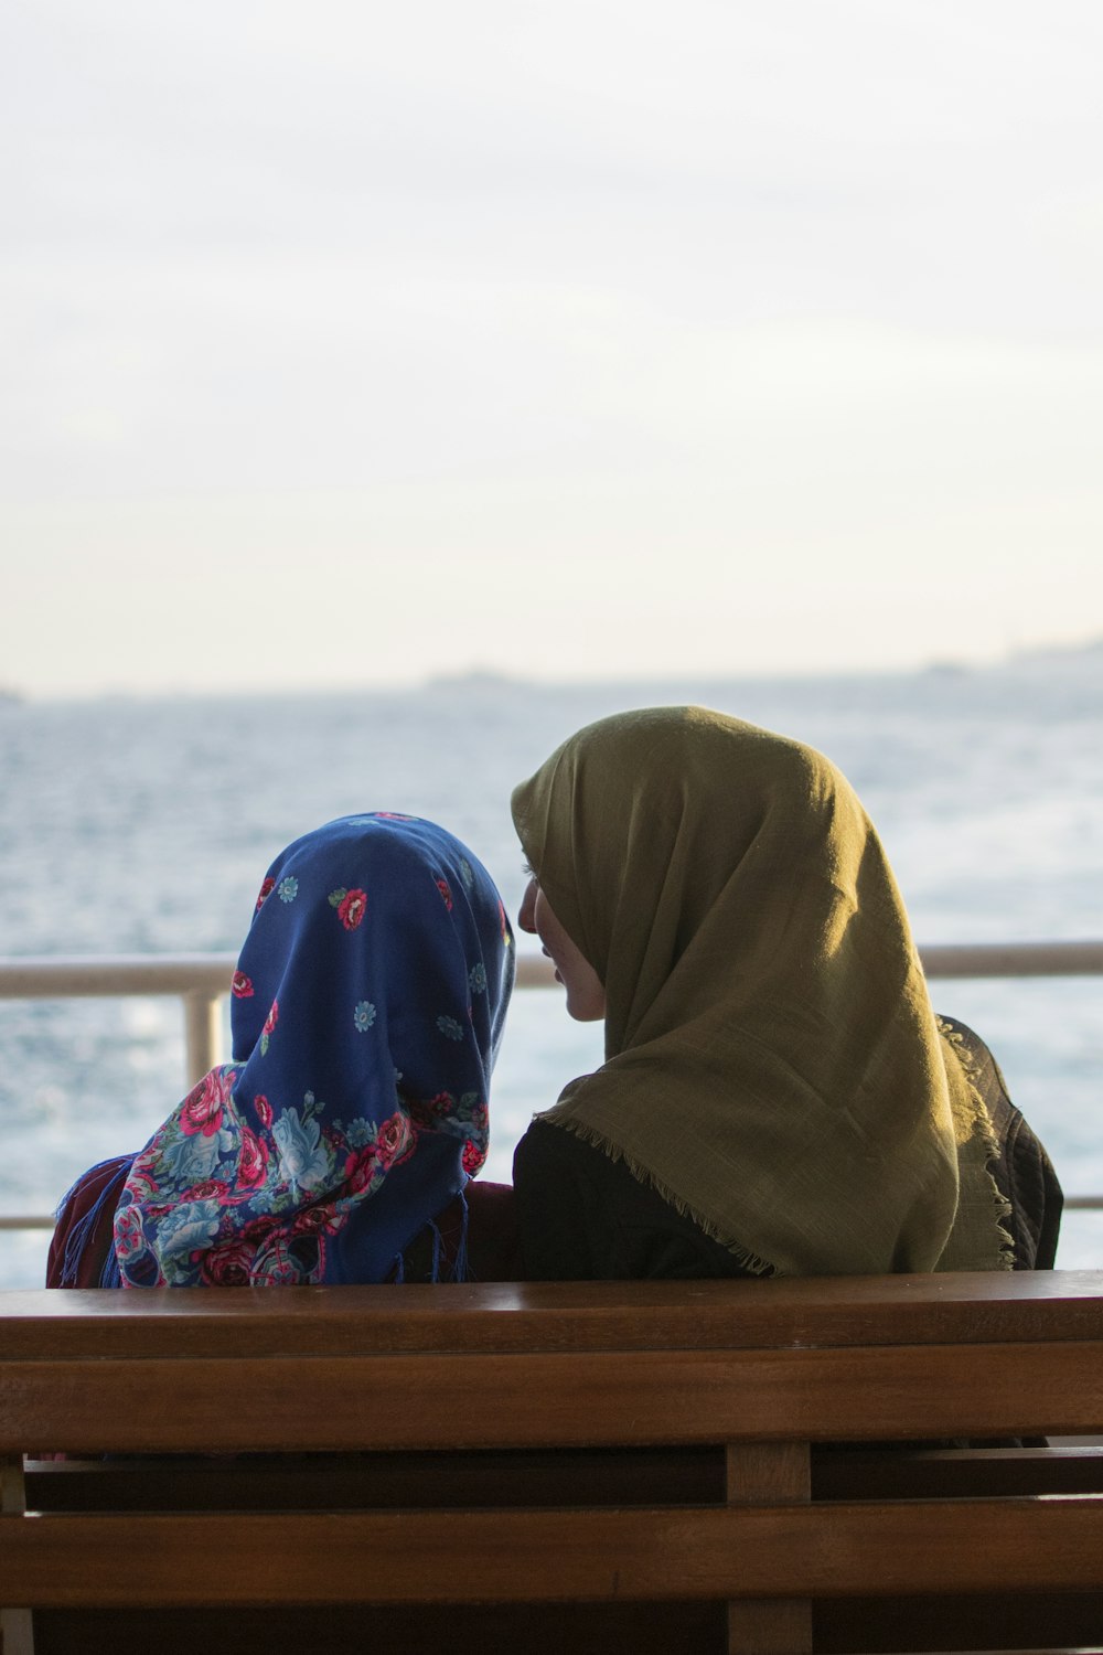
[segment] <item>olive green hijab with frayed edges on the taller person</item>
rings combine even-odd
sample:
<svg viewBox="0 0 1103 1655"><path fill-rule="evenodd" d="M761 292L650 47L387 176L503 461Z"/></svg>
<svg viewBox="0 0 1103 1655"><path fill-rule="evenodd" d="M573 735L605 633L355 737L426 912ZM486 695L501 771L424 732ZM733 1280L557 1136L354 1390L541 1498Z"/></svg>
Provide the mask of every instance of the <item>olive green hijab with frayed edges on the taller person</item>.
<svg viewBox="0 0 1103 1655"><path fill-rule="evenodd" d="M754 1271L1010 1268L991 1122L833 765L660 707L571 736L513 816L607 1000L605 1064L539 1119Z"/></svg>

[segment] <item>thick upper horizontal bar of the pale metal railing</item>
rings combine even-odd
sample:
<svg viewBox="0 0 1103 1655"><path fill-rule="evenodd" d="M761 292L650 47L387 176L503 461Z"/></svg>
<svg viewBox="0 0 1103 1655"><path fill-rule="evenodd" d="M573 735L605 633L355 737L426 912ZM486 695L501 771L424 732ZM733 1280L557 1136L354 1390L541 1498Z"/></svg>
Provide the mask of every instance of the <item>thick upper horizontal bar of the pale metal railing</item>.
<svg viewBox="0 0 1103 1655"><path fill-rule="evenodd" d="M1103 976L1103 940L933 943L919 948L928 976ZM7 955L0 1000L68 1000L116 995L225 995L230 953ZM518 955L518 986L547 988L551 960Z"/></svg>

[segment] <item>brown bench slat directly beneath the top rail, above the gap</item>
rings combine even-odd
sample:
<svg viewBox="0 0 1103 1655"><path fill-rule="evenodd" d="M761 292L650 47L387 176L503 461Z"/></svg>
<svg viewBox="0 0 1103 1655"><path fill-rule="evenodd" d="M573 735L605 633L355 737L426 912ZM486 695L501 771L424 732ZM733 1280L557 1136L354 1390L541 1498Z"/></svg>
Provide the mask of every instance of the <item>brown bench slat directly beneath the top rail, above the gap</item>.
<svg viewBox="0 0 1103 1655"><path fill-rule="evenodd" d="M0 1362L0 1451L263 1451L273 1420L284 1450L1093 1433L1103 1342Z"/></svg>

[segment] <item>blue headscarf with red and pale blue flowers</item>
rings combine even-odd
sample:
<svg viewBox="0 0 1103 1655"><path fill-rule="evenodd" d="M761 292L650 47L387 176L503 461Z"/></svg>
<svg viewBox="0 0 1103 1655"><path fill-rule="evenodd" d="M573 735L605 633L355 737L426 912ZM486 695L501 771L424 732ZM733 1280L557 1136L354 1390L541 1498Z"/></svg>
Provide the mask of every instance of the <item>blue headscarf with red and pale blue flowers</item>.
<svg viewBox="0 0 1103 1655"><path fill-rule="evenodd" d="M288 846L233 975L233 1063L131 1167L122 1286L387 1278L486 1158L513 973L498 890L443 828L344 816Z"/></svg>

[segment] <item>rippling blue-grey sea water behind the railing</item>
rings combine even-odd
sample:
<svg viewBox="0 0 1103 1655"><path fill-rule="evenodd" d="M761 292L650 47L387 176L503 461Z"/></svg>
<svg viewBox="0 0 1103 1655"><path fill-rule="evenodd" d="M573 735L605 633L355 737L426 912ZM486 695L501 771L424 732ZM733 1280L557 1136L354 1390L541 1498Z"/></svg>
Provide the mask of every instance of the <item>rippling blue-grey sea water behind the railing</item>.
<svg viewBox="0 0 1103 1655"><path fill-rule="evenodd" d="M509 791L579 725L700 702L797 736L850 776L919 943L1103 937L1103 652L977 670L541 687L470 677L395 693L0 705L0 953L236 952L268 862L351 811L443 823L516 912ZM532 947L526 937L523 947ZM936 981L996 1051L1065 1190L1103 1190L1103 980ZM228 1038L227 1038L228 1053ZM600 1063L562 995L514 996L488 1177L532 1112ZM0 1211L51 1210L146 1142L184 1091L177 1000L0 1001ZM0 1286L46 1236L0 1233ZM1103 1264L1103 1213L1065 1218Z"/></svg>

